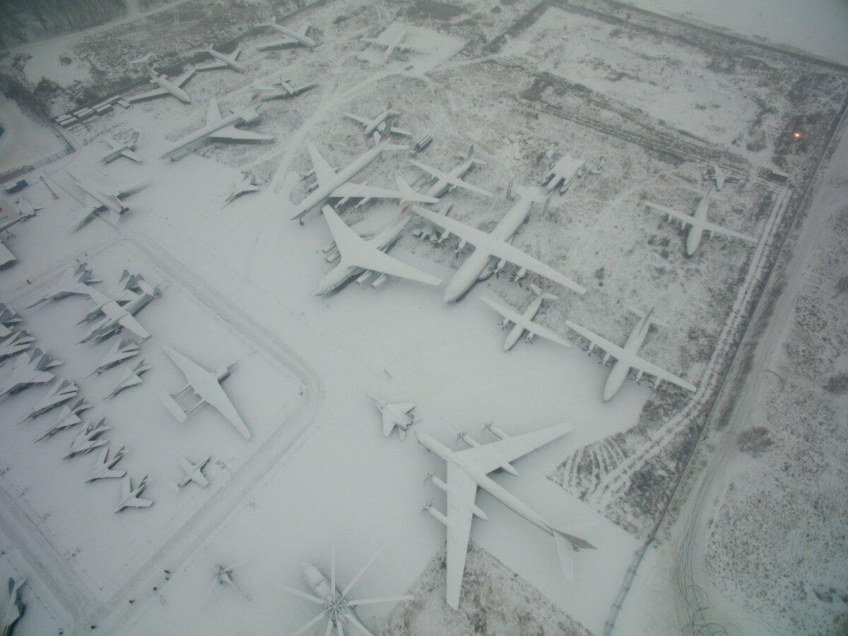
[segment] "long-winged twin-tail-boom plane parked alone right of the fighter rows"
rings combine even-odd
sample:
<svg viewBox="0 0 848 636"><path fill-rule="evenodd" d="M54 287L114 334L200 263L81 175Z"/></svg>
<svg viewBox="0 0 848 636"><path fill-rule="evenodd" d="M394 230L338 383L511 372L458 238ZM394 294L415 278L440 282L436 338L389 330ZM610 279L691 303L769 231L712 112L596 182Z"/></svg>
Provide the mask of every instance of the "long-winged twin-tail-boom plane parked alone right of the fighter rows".
<svg viewBox="0 0 848 636"><path fill-rule="evenodd" d="M165 353L168 354L168 357L170 357L171 360L174 360L174 364L180 367L182 375L184 375L187 380L186 386L181 388L177 393L164 393L161 396L165 406L168 410L170 410L170 414L176 417L177 421L183 422L186 421L187 416L189 416L193 410L197 409L198 406L201 406L202 404L210 404L215 410L224 416L226 421L229 421L238 432L242 433L245 439L250 439L250 431L248 430L247 425L242 420L242 417L238 415L236 407L232 405L232 402L226 396L226 393L224 393L224 389L220 388L220 382L223 382L227 377L230 377L232 367L234 367L236 363L233 362L231 365L221 366L216 371L210 372L206 371L196 362L189 360L176 349L172 349L167 345L165 345L163 349L165 349ZM182 395L189 392L197 395L198 401L193 404L190 409L183 410L180 404L176 403L176 399L179 399Z"/></svg>

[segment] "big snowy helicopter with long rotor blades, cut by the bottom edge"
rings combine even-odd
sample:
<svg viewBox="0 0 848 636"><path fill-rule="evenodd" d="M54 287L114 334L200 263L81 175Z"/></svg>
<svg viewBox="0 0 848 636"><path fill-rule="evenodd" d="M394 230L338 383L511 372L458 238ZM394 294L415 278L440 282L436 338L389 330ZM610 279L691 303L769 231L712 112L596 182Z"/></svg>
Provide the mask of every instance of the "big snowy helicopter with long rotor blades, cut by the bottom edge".
<svg viewBox="0 0 848 636"><path fill-rule="evenodd" d="M405 600L415 600L414 596L395 596L360 600L347 599L347 594L350 589L353 588L354 584L360 580L360 577L362 577L363 574L365 574L365 571L371 566L371 563L377 560L377 556L380 555L382 550L384 549L381 549L376 555L372 556L371 561L365 563L365 566L356 573L356 576L353 577L350 583L348 583L341 591L339 591L336 587L335 545L332 550L329 581L327 581L326 577L321 574L321 571L317 567L313 566L309 561L304 561L304 579L306 579L306 584L309 585L310 592L312 594L301 592L299 589L288 588L285 585L280 587L302 599L309 600L316 605L321 605L322 609L321 614L315 616L315 618L313 618L310 622L307 622L302 628L298 629L297 632L293 633L292 636L300 636L300 634L306 633L313 625L315 625L316 622L321 621L323 618L328 619L325 634L331 633L332 629L336 628L338 636L344 636L345 633L350 633L349 630L353 627L360 633L365 634L365 636L373 636L373 634L365 628L365 625L362 624L362 619L360 619L360 617L356 614L356 607L359 605L371 605L374 603L398 603Z"/></svg>

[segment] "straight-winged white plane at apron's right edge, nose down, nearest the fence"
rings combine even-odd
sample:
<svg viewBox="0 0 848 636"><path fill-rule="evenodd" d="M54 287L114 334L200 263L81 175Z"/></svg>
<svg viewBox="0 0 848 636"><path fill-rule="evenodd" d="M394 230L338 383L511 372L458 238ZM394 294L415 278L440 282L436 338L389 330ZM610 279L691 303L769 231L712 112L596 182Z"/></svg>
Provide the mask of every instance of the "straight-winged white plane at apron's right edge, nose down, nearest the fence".
<svg viewBox="0 0 848 636"><path fill-rule="evenodd" d="M618 393L618 389L622 388L622 384L624 384L624 381L628 379L631 369L636 369L637 371L636 382L639 382L639 380L642 379L642 375L644 373L648 373L651 376L656 377L654 388L659 387L660 382L665 380L666 382L677 384L678 387L683 387L688 391L697 390L694 384L686 382L682 377L672 375L665 369L661 369L659 366L651 364L648 360L639 358L639 348L644 342L644 337L648 335L648 330L650 329L652 322L650 316L654 312L654 308L651 307L647 314L643 314L642 312L632 308L631 311L639 316L639 322L636 323L636 326L633 326L633 331L630 332L628 341L624 343L624 347L619 347L617 344L613 344L609 340L601 338L598 334L590 332L589 329L584 326L577 325L572 321L566 321L566 326L568 326L569 329L572 329L583 336L583 338L589 340L589 355L592 354L595 347L599 347L606 352L604 357L601 359L604 364L606 364L610 358L616 359L615 364L612 365L610 370L610 375L606 377L606 383L604 385L604 401L611 399L612 396ZM662 324L659 321L653 322L657 325Z"/></svg>

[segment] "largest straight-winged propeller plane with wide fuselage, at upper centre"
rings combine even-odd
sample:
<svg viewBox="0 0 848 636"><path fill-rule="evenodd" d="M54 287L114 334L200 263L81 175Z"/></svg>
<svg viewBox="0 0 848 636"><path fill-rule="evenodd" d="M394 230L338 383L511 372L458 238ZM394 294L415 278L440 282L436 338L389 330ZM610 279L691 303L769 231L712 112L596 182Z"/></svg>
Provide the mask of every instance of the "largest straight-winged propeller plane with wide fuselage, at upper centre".
<svg viewBox="0 0 848 636"><path fill-rule="evenodd" d="M538 188L527 188L522 192L521 198L518 199L516 204L504 215L504 218L498 221L494 230L488 234L477 230L476 227L466 226L465 223L460 223L460 221L451 219L449 216L439 215L418 205L412 206L416 214L429 220L433 225L444 227L446 231L460 237L456 254L460 253L466 243L471 243L474 246L474 252L465 259L448 282L444 291L445 303L458 300L471 289L475 282L485 278L486 268L493 257L499 259L494 269L490 269L495 273L502 270L506 262L510 262L513 265L518 265L524 271L533 271L539 276L550 278L551 281L558 282L577 293L586 291L582 285L578 285L571 278L563 276L550 265L545 265L540 260L534 259L509 243L512 235L527 218L533 203L544 200Z"/></svg>

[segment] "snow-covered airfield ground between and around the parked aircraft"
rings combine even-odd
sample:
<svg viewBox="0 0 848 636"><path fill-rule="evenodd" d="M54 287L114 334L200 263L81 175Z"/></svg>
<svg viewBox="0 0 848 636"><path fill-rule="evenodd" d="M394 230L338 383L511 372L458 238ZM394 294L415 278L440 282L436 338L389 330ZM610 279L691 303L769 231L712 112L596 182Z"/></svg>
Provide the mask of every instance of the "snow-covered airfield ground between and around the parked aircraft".
<svg viewBox="0 0 848 636"><path fill-rule="evenodd" d="M408 590L418 597L388 618L379 605L363 608L361 616L372 631L605 633L616 618L622 585L630 581L633 555L661 522L665 525L656 542L661 550L649 550L636 571L615 633L694 632L706 612L690 614L684 619L690 624L681 626L671 608L677 608L675 616L686 616L678 596L691 605L695 588L698 594L710 588L711 620L717 616L744 633L827 633L844 613L839 605L840 595L848 593L844 537L834 538L837 547L828 549L840 554L836 558L819 549L816 533L812 538L801 531L770 535L758 528L760 523L728 517L717 505L719 525L727 528L724 537L738 533L734 526L739 524L744 533L761 532L766 543L773 542L773 553L785 552L787 539L804 537L807 550L796 544L791 550L812 561L795 568L801 574L782 561L778 570L768 572L778 581L800 581L811 600L798 594L778 602L773 586L750 584L749 572L773 553L758 555L753 567L724 564L721 570L706 567L683 575L671 569L677 545L691 552L692 535L707 526L703 521L693 532L686 525L699 518L697 510L689 510L695 504L687 502L687 495L706 493L721 504L721 486L695 489L700 474L690 471L672 500L671 515L665 517L664 510L690 457L695 464L715 465L709 452L693 455L705 424L706 442L699 448L714 444L722 454L730 452L721 438L711 437L722 423L712 407L717 397L719 404L732 402L722 381L761 298L765 276L776 260L786 258L784 239L800 246L797 252L804 258L824 251L811 232L796 236L810 227L806 220L790 227L799 209L801 218L817 220L819 232L836 228L825 247L837 242L834 254L843 247L834 265L809 265L821 271L816 284L822 293L829 296L844 275L845 232L838 243L840 225L831 220L837 213L845 215L844 204L838 203L845 200L840 199L844 187L843 192L836 189L845 181L845 144L835 153L834 147L842 134L848 72L638 12L625 17L628 12L619 5L431 4L427 9L423 3L331 2L312 8L292 20L293 26L305 20L313 25L311 33L323 44L311 51L259 53L255 45L271 39L271 33L246 36L239 61L247 72L196 75L185 86L192 103L160 98L130 109L116 107L71 127L67 133L77 152L42 169L58 200L36 175L26 176L35 185L25 196L43 209L17 226L7 243L18 262L0 271L0 300L20 311L22 326L36 336L39 347L64 360L57 375L78 382L81 394L94 404L86 419L107 418L113 449L127 447L119 466L133 483L150 475L145 496L155 504L114 515L118 484L83 483L96 454L61 459L75 433L32 443L55 419L55 411L18 422L45 389L28 389L0 403L0 575L3 580L25 575L28 586L23 593L27 615L15 633L81 633L92 625L98 633L293 633L317 606L279 586L306 591L304 560L329 576L333 541L342 585L388 544L352 590L353 598ZM33 84L38 77L31 73L47 73L63 86L73 79L93 84L86 79L89 63L98 66L98 81L137 75L128 59L151 48L154 64L157 55L187 57L209 39L223 42L239 27L258 23L259 13L266 20L269 12L259 9L183 3L86 37L12 51L3 72L22 72ZM763 4L764 12L769 9ZM715 23L709 14L700 18ZM359 38L376 36L397 20L414 27L409 42L421 50L409 61L383 64L382 53ZM756 28L756 22L745 23L740 31L780 33L775 38L785 41L782 31ZM22 71L14 68L15 53L32 56L20 60ZM70 64L53 69L60 56ZM79 76L64 76L64 70ZM260 120L248 129L276 136L275 143L210 142L174 163L157 159L177 138L204 125L209 98L218 99L223 109L237 109L248 102L254 82L276 81L281 70L287 75L282 79L295 86L310 81L319 86L265 103ZM70 90L44 93L43 106L53 116L72 109ZM142 90L148 88L136 89ZM315 213L304 226L288 220L290 202L304 197L298 171L311 167L305 143L315 143L333 165L346 165L370 142L342 113L370 117L388 102L402 113L399 125L410 128L415 138L428 132L435 137L418 156L427 164L449 169L459 161L455 153L474 144L475 156L487 165L467 178L497 197L457 191L448 198L455 202L452 216L487 231L509 207L504 196L511 178L536 185L561 154L583 157L590 165L604 156L599 175L584 176L566 195L555 195L544 216L536 206L516 236L516 246L589 289L579 297L545 285L560 299L546 301L537 320L575 345L585 343L567 331L566 319L623 343L636 321L628 305L642 310L656 305L658 317L669 326L652 330L641 353L699 391L690 395L664 385L651 393L644 383L628 382L605 404L601 388L607 370L579 347L561 349L539 341L504 353L498 318L477 296L499 298L522 310L533 294L527 285L510 283L509 276L478 284L450 306L442 303L438 289L397 280L376 290L354 283L330 297L313 296L328 267L321 248L329 232ZM13 104L3 103L0 112L7 129L0 137L2 170L62 149L58 138L52 146L49 130ZM141 132L136 150L144 162L98 164L108 149L102 137L126 139L133 129ZM799 139L792 137L795 131ZM23 141L30 138L37 143ZM405 162L406 156L387 153L356 180L381 187L393 187L394 176L414 182L421 173ZM739 181L718 193L711 220L761 240L756 246L705 242L687 259L683 233L646 210L644 200L691 212L707 187L702 173L713 162ZM96 219L70 232L83 198L66 167L112 184L147 185L126 199L131 209L117 223ZM262 189L221 209L239 170L253 170ZM769 180L769 170L788 173L791 187ZM395 204L369 204L346 209L343 218L365 234L378 231L397 212ZM458 262L451 251L409 233L392 254L444 279ZM76 326L90 309L86 301L71 297L24 309L75 259L91 265L103 289L114 286L124 269L142 273L151 284L163 283L162 297L137 316L153 338L142 343L142 353L133 360L144 357L153 369L140 387L115 399L100 400L118 381L120 367L86 377L111 344L76 343L86 332L85 325ZM796 274L802 266L795 259L787 269ZM845 319L839 300L828 305L834 320L817 315L834 349L845 338L838 329L840 317ZM791 305L784 305L778 305L783 310L778 325L791 312ZM761 319L758 324L771 323ZM209 407L184 424L173 420L158 394L175 393L184 378L164 354L164 345L209 369L239 360L225 387L253 432L249 442ZM803 343L801 349L812 346ZM798 348L787 345L786 350L791 357ZM818 375L808 372L822 378L816 387L834 371L845 371L844 354L830 349L807 363L819 369ZM0 381L9 366L0 369ZM731 377L744 384L745 371ZM521 477L495 478L555 522L587 522L587 538L598 550L576 555L576 582L561 580L550 537L482 494L477 504L489 521L472 527L460 613L449 611L439 567L444 527L418 515L429 499L444 510L444 494L421 483L433 470L444 477L442 462L411 436L404 443L396 434L383 438L365 391L415 401L421 421L413 430L420 427L445 444L466 429L481 442L490 441L481 432L487 421L513 433L571 423L575 431L566 438L516 462ZM807 455L815 455L816 444L832 444L840 449L830 451L835 458L845 456L845 395L834 395L825 406L841 428L834 428L834 439L806 439ZM787 424L809 426L803 416L786 415L793 406L790 401L782 413ZM774 427L773 437L783 437L781 424L768 417L765 423ZM785 446L795 448L791 440ZM736 448L734 443L730 448ZM209 454L209 488L170 488L181 477L180 457L199 460ZM772 478L758 462L774 458L736 455L730 472ZM827 491L844 487L844 464L842 470L828 471L830 458L815 456L816 474L830 484ZM724 479L717 481L724 484ZM792 485L801 492L801 484ZM742 482L735 488L731 492L762 486ZM739 510L745 498L733 496L730 507ZM826 536L834 515L844 516L845 503L823 507L817 514ZM673 526L678 516L683 529ZM784 522L774 518L762 524L769 525ZM722 562L726 540L701 538L695 553L709 550L715 562ZM734 549L734 557L744 563L745 548ZM230 588L210 589L215 566L240 561L246 562L234 577L250 602ZM821 573L823 563L829 569ZM680 583L682 576L694 581ZM675 595L672 585L682 592ZM724 600L731 594L733 601Z"/></svg>

